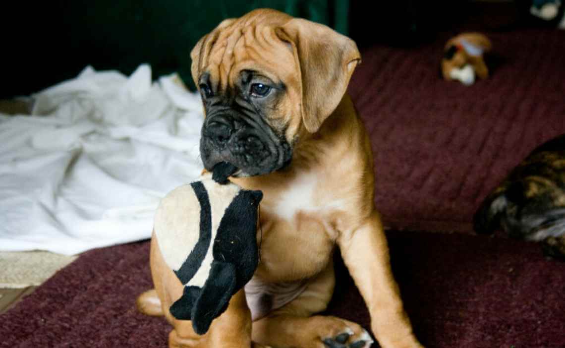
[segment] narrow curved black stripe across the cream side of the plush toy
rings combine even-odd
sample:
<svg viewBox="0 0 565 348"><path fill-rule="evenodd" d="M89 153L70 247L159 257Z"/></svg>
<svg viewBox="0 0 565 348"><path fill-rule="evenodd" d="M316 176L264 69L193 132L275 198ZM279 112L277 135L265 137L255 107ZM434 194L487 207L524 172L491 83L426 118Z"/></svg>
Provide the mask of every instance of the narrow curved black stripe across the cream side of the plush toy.
<svg viewBox="0 0 565 348"><path fill-rule="evenodd" d="M208 198L208 193L202 182L197 181L190 184L198 202L200 203L200 236L198 237L198 242L194 246L194 249L190 251L188 258L182 263L182 266L175 271L177 277L182 282L186 284L194 275L200 265L202 260L206 256L208 247L210 247L210 240L212 239L212 214L210 209L210 198Z"/></svg>

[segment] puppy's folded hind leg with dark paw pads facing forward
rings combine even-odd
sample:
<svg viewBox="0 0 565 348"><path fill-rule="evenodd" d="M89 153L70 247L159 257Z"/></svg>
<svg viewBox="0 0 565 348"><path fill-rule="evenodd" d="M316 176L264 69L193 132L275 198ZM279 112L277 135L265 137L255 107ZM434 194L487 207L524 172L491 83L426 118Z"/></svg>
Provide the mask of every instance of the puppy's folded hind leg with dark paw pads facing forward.
<svg viewBox="0 0 565 348"><path fill-rule="evenodd" d="M332 298L333 263L310 281L292 302L253 323L253 341L277 348L367 348L373 342L366 330L333 316L311 316L325 310Z"/></svg>

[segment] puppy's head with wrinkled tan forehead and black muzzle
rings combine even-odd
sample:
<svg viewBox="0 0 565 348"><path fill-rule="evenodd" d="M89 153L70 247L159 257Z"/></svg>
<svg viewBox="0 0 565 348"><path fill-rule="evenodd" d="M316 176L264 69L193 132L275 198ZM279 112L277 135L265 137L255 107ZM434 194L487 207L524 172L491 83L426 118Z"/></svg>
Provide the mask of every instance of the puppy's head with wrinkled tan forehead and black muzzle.
<svg viewBox="0 0 565 348"><path fill-rule="evenodd" d="M209 171L231 163L236 176L290 163L301 134L335 110L360 59L349 38L274 10L224 20L191 57L206 115L202 161Z"/></svg>

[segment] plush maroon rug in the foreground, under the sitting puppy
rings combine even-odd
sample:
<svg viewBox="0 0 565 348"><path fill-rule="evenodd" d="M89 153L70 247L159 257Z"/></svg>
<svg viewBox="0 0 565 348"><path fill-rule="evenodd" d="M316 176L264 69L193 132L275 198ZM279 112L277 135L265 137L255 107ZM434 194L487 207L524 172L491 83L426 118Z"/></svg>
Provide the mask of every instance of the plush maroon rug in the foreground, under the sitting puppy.
<svg viewBox="0 0 565 348"><path fill-rule="evenodd" d="M389 232L394 273L428 347L565 347L565 263L503 238ZM0 347L166 347L168 324L138 314L149 243L89 251L0 316ZM338 262L329 314L369 327Z"/></svg>

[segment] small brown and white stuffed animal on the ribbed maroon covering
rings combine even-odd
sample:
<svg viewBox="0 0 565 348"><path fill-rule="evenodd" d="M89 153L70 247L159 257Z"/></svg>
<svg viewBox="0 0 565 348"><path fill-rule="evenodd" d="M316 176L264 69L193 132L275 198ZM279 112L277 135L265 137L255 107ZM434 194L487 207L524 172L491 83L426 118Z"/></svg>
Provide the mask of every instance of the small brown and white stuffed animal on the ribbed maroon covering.
<svg viewBox="0 0 565 348"><path fill-rule="evenodd" d="M475 83L476 77L486 79L489 69L484 54L492 44L488 37L480 33L462 33L445 44L444 58L441 60L441 73L445 80L457 80L464 85Z"/></svg>

